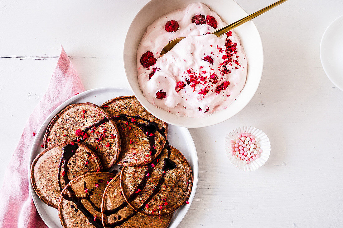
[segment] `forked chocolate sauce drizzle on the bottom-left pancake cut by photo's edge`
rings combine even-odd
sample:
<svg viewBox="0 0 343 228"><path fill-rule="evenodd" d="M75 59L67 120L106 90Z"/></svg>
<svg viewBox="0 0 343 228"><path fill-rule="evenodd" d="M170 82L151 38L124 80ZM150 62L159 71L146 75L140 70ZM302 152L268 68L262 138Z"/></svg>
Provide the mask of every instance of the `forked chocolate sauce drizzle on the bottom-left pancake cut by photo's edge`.
<svg viewBox="0 0 343 228"><path fill-rule="evenodd" d="M86 186L86 181L83 182L83 186L85 189L87 189L87 186ZM101 210L99 207L97 207L93 201L91 200L90 198L90 194L88 194L88 192L86 192L86 196L85 197L77 197L74 190L70 187L70 186L67 186L67 189L69 191L69 194L70 194L70 197L68 194L62 194L62 197L68 201L71 201L73 202L76 207L84 214L84 216L86 216L86 218L88 219L88 221L95 227L97 228L104 228L103 226L103 223L102 223L102 220L101 219L98 219L96 218L95 221L94 221L94 216L91 214L90 211L87 210L87 208L82 204L82 201L81 200L87 200L91 205L92 207L99 213L101 213ZM73 206L73 205L72 205ZM73 208L73 207L71 207ZM76 211L76 208L75 208L75 212ZM101 218L101 216L100 216Z"/></svg>

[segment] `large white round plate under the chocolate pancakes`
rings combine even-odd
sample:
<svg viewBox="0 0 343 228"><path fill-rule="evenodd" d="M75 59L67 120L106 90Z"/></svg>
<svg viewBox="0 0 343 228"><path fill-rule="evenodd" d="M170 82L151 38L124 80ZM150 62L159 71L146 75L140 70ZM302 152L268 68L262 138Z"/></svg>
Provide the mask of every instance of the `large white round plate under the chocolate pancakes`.
<svg viewBox="0 0 343 228"><path fill-rule="evenodd" d="M107 88L98 88L87 90L82 92L67 101L63 102L60 106L58 106L44 121L43 125L40 127L35 140L33 142L31 153L30 153L30 166L28 170L30 170L31 163L35 159L35 157L43 151L40 147L43 144L43 138L46 131L46 128L51 121L51 119L59 113L64 107L68 106L69 104L73 103L84 103L84 102L91 102L97 105L104 103L110 99L120 96L131 96L133 95L132 91L128 88L117 88L117 87L107 87ZM180 152L186 157L187 161L189 162L192 170L193 170L193 187L188 199L189 204L185 204L180 207L178 210L174 212L173 218L170 221L169 228L175 228L181 220L185 217L189 207L193 201L197 184L198 184L198 154L196 151L196 147L194 145L194 141L192 139L189 130L184 127L177 127L173 125L168 126L168 135L167 138L171 145L175 148L179 149ZM28 172L30 174L30 171ZM60 219L58 217L58 211L55 208L49 207L45 203L43 203L38 195L36 194L35 190L31 185L31 178L30 175L29 179L29 191L31 192L32 199L34 204L36 205L37 211L42 217L43 221L49 228L62 228Z"/></svg>

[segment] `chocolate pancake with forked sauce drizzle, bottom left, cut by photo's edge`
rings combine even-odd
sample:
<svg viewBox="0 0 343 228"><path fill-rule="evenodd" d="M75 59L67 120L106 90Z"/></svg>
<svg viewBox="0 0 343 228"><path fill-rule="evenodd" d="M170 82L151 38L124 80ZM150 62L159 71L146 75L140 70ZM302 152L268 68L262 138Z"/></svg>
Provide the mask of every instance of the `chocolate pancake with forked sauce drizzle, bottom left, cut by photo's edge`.
<svg viewBox="0 0 343 228"><path fill-rule="evenodd" d="M61 192L58 215L64 228L103 228L101 201L106 186L115 175L88 173L71 180Z"/></svg>

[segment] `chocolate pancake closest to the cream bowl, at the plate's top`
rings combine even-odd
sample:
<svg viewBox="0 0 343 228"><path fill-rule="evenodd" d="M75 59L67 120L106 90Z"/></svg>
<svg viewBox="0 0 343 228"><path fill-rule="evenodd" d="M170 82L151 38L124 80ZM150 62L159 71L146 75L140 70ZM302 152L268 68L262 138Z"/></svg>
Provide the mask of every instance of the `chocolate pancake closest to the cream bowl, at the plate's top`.
<svg viewBox="0 0 343 228"><path fill-rule="evenodd" d="M143 165L163 150L168 125L151 115L134 97L117 97L101 105L118 126L119 165Z"/></svg>

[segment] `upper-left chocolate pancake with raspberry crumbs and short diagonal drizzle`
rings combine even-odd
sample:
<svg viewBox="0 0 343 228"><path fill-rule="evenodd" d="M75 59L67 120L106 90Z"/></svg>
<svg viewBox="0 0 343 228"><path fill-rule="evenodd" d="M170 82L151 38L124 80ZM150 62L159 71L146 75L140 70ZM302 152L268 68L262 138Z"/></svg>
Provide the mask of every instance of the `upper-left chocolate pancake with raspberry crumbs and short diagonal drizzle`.
<svg viewBox="0 0 343 228"><path fill-rule="evenodd" d="M51 120L44 136L44 147L64 141L86 144L98 155L105 170L119 158L117 126L104 110L92 103L71 104Z"/></svg>

